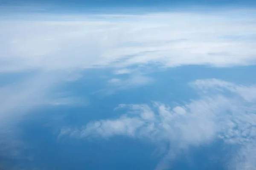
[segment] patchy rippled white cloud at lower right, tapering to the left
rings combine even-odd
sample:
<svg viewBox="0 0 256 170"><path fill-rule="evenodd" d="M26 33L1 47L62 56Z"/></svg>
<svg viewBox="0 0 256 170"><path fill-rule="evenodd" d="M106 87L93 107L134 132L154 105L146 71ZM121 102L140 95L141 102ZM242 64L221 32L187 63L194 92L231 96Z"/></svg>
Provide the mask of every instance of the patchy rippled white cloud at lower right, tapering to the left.
<svg viewBox="0 0 256 170"><path fill-rule="evenodd" d="M159 102L153 102L151 105L121 104L116 109L128 111L118 119L93 121L79 129L69 127L69 130L61 132L60 136L110 138L123 135L151 141L157 146L168 144L169 149L156 170L168 169L177 159L177 155L189 146L199 147L222 140L230 146L239 148L236 155L229 158L230 169L255 168L256 154L252 148L256 145L256 103L243 97L244 91L236 91L229 87L231 85L238 89L250 89L252 93L256 89L218 79L196 80L190 84L199 89L204 87L217 91L205 93L199 99L174 108ZM239 97L227 96L220 91L221 88L226 88Z"/></svg>

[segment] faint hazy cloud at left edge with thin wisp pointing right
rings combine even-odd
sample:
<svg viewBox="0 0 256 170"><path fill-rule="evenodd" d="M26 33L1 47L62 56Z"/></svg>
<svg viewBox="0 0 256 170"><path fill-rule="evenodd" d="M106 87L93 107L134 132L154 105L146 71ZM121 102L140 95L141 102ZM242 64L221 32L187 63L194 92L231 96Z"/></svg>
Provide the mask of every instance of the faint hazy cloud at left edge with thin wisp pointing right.
<svg viewBox="0 0 256 170"><path fill-rule="evenodd" d="M26 73L24 73L26 74ZM0 86L0 157L17 158L26 149L20 140L23 134L17 124L26 119L27 114L46 105L88 105L88 99L79 99L72 95L56 95L56 88L70 79L69 74L52 71L38 71L29 75L19 74L10 78L11 83ZM3 82L5 79L3 79Z"/></svg>

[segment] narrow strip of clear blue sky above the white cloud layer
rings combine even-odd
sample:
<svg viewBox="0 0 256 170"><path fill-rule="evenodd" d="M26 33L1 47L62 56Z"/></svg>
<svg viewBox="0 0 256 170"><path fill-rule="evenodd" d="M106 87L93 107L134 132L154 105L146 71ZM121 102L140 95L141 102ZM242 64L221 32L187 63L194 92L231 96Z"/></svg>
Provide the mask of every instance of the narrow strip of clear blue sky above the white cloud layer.
<svg viewBox="0 0 256 170"><path fill-rule="evenodd" d="M163 11L204 11L252 8L254 0L1 0L4 14L39 12L58 14L141 14ZM20 14L20 13L19 13Z"/></svg>

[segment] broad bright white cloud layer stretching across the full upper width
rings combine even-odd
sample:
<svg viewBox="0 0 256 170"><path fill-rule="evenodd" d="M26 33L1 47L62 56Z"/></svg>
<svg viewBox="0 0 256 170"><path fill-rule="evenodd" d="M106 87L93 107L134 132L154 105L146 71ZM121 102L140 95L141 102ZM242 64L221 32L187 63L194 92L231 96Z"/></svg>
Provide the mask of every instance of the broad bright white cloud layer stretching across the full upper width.
<svg viewBox="0 0 256 170"><path fill-rule="evenodd" d="M250 10L59 16L67 21L41 17L48 21L0 21L0 72L255 64L256 22Z"/></svg>

